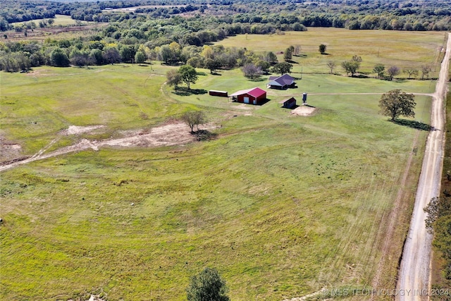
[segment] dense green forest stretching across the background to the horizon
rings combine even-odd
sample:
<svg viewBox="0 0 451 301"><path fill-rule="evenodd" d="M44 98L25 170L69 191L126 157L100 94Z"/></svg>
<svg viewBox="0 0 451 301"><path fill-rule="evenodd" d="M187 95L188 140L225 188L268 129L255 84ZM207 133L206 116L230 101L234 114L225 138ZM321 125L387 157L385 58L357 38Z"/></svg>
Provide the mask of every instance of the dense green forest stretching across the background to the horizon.
<svg viewBox="0 0 451 301"><path fill-rule="evenodd" d="M103 26L91 26L96 34L90 36L49 37L44 42L25 39L37 27L55 27L56 15L70 16L80 26L82 21ZM140 63L147 59L212 68L234 68L252 61L264 67L274 62L245 49L203 46L231 35L283 35L308 27L451 30L451 0L193 0L189 4L185 0L4 0L0 9L0 30L4 31L0 69ZM11 30L24 39L8 39Z"/></svg>

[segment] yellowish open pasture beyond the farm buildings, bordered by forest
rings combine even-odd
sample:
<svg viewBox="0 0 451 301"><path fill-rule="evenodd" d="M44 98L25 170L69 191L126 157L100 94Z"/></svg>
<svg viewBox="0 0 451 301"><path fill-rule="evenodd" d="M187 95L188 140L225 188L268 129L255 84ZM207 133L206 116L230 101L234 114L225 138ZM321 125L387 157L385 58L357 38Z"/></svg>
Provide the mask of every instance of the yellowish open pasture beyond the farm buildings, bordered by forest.
<svg viewBox="0 0 451 301"><path fill-rule="evenodd" d="M338 28L309 27L306 32L285 32L285 35L237 35L216 42L225 47L246 47L253 51L285 51L290 45L301 47L300 56L293 56L293 71L304 73L329 73L326 65L334 61L335 72L345 73L342 61L349 61L352 56L362 57L360 72L375 75L373 68L382 63L386 69L390 66L399 68L417 68L428 64L433 66L431 78L438 77L438 68L445 32L397 32L384 30L341 30ZM326 55L318 51L319 45L327 46ZM283 54L278 54L278 61L283 61ZM373 73L373 74L371 74ZM420 73L421 75L421 73ZM407 78L406 74L400 77Z"/></svg>

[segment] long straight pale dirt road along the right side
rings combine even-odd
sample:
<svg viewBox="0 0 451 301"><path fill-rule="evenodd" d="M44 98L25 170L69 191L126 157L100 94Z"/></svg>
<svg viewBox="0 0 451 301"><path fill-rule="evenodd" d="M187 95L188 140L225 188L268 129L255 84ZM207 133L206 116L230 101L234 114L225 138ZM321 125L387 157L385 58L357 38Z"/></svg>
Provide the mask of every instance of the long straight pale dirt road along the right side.
<svg viewBox="0 0 451 301"><path fill-rule="evenodd" d="M433 94L431 125L432 131L426 142L423 166L409 234L402 252L402 261L398 275L397 289L400 295L396 300L428 300L430 289L429 275L431 262L432 236L426 231L423 208L433 197L440 195L440 179L443 163L443 140L445 134L445 113L443 102L447 92L448 63L451 57L451 34L448 34L445 58L440 68L440 75Z"/></svg>

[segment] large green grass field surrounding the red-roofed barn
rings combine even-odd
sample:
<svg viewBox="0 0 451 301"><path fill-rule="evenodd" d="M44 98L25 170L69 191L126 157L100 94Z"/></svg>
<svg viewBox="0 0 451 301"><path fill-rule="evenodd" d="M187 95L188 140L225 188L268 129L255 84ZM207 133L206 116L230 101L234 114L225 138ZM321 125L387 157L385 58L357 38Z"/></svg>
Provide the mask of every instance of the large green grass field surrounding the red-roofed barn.
<svg viewBox="0 0 451 301"><path fill-rule="evenodd" d="M399 240L381 278L383 288L393 288L427 132L378 115L379 95L313 94L429 93L435 82L311 74L296 90L271 91L270 102L246 106L175 94L163 84L170 68L1 74L1 135L24 155L69 125L106 129L63 138L54 148L152 128L190 109L203 109L218 126L216 140L102 148L2 172L2 299L87 300L97 293L106 300L185 300L190 276L205 266L220 271L232 300L368 287L402 188ZM266 84L246 80L240 70L204 71L193 85L199 92ZM314 116L278 108L279 99L302 92L312 94ZM413 120L428 123L431 99L416 102Z"/></svg>

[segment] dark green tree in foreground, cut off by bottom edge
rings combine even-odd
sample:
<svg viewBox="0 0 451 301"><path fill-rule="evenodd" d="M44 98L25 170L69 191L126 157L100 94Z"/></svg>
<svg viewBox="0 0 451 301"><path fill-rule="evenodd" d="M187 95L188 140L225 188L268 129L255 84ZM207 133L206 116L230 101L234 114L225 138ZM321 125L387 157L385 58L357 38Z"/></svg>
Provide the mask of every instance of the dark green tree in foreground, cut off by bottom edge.
<svg viewBox="0 0 451 301"><path fill-rule="evenodd" d="M193 276L186 289L188 301L229 301L226 281L216 269L205 268Z"/></svg>

